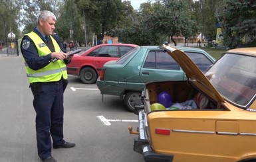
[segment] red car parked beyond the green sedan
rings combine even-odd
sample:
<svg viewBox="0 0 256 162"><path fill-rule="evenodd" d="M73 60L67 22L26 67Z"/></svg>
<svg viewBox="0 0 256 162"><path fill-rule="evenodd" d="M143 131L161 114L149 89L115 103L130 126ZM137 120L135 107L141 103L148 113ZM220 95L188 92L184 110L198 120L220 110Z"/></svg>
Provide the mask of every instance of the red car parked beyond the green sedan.
<svg viewBox="0 0 256 162"><path fill-rule="evenodd" d="M77 75L82 83L95 83L104 63L118 60L137 46L136 44L100 44L94 46L81 55L75 54L73 56L71 63L66 66L68 74Z"/></svg>

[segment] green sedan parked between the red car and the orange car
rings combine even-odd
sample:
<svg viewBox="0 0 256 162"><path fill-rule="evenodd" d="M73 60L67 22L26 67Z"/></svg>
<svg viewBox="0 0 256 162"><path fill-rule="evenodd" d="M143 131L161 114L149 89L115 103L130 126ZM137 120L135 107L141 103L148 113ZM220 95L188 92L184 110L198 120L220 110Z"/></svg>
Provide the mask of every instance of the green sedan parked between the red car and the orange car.
<svg viewBox="0 0 256 162"><path fill-rule="evenodd" d="M187 54L205 71L215 59L199 48L175 47ZM119 60L108 61L102 67L96 85L102 95L116 95L126 108L142 104L144 85L152 81L184 81L187 77L180 65L159 46L138 46Z"/></svg>

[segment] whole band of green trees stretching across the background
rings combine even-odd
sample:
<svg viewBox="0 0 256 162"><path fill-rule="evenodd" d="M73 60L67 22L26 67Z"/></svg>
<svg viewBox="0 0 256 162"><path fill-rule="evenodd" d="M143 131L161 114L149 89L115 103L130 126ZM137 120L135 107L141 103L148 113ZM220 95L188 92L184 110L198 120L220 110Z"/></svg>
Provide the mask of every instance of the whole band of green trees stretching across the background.
<svg viewBox="0 0 256 162"><path fill-rule="evenodd" d="M16 35L19 28L24 28L23 33L30 32L37 26L39 11L49 10L57 16L55 32L67 42L72 28L72 39L80 43L85 42L85 35L92 42L92 34L100 40L108 34L118 36L124 43L156 45L170 41L170 37L188 38L199 32L215 39L215 24L220 22L223 45L235 48L242 44L244 36L247 46L256 45L255 3L253 0L152 0L134 10L129 0L0 0L0 28L13 30ZM0 41L4 32L0 30Z"/></svg>

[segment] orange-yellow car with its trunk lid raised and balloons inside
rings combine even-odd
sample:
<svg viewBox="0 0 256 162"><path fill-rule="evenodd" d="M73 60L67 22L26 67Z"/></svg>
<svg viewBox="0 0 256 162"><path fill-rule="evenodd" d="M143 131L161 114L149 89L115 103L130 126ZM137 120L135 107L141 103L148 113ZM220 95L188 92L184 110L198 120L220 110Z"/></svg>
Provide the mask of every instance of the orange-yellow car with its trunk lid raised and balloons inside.
<svg viewBox="0 0 256 162"><path fill-rule="evenodd" d="M129 128L134 151L146 162L256 161L256 48L229 50L204 73L184 52L161 48L188 81L145 85L139 127Z"/></svg>

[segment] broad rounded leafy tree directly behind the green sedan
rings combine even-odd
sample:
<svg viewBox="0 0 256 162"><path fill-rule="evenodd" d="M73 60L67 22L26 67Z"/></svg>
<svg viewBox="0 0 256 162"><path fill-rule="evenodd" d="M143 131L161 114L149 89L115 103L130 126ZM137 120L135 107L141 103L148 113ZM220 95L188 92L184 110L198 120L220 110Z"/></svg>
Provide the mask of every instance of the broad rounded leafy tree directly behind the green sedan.
<svg viewBox="0 0 256 162"><path fill-rule="evenodd" d="M112 30L123 42L139 45L162 44L169 36L193 36L199 26L186 1L143 3L136 20L124 28ZM175 42L174 42L175 43Z"/></svg>

